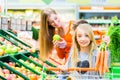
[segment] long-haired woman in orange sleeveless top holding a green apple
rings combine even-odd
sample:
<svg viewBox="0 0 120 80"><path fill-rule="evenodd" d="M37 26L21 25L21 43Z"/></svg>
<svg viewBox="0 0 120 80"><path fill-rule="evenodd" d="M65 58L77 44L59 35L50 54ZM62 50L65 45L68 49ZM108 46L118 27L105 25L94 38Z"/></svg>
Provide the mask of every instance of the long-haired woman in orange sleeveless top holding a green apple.
<svg viewBox="0 0 120 80"><path fill-rule="evenodd" d="M72 43L70 32L71 21L69 23L62 22L56 11L47 8L41 12L41 27L40 27L40 59L46 60L53 49L57 51L60 59L68 58L68 53ZM58 34L62 41L53 40L54 34Z"/></svg>

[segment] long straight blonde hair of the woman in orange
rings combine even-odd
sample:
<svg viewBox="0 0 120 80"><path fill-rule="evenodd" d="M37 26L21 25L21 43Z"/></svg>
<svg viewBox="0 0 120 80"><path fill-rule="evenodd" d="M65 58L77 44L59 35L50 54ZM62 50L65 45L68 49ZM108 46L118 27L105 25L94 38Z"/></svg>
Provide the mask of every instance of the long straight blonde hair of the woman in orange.
<svg viewBox="0 0 120 80"><path fill-rule="evenodd" d="M40 40L40 54L39 58L45 60L47 56L52 52L53 43L52 37L55 33L55 28L49 24L48 18L51 14L56 14L55 10L46 8L41 11L41 26L39 32Z"/></svg>

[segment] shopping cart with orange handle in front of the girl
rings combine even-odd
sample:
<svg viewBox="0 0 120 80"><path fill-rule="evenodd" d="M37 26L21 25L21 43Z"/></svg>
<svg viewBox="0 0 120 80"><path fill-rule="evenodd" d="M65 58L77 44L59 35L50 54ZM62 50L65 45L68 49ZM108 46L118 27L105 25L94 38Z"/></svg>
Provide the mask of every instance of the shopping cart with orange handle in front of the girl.
<svg viewBox="0 0 120 80"><path fill-rule="evenodd" d="M80 74L77 71L88 71L90 73L97 72L96 68L68 68L67 72L70 74L63 74L60 68L47 68L47 70L60 71L61 74L49 75L51 77L44 80L112 80L110 73L100 76L99 74ZM56 78L53 78L56 76Z"/></svg>

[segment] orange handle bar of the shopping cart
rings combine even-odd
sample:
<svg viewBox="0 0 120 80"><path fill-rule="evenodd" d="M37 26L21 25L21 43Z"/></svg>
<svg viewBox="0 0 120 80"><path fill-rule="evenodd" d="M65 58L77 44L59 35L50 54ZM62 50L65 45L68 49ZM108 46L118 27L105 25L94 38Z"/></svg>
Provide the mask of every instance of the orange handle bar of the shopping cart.
<svg viewBox="0 0 120 80"><path fill-rule="evenodd" d="M47 68L52 71L62 71L60 68ZM67 71L96 71L95 68L68 68Z"/></svg>

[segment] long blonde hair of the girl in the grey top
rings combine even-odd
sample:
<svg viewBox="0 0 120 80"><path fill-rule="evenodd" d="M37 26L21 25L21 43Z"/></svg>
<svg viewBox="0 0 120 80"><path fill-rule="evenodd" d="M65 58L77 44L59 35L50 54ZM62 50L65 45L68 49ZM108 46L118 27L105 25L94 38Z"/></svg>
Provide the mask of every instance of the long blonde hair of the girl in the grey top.
<svg viewBox="0 0 120 80"><path fill-rule="evenodd" d="M94 33L92 30L92 26L89 24L80 24L77 26L77 28L75 29L75 34L73 35L73 52L72 52L72 67L75 67L76 63L80 60L78 58L78 54L80 51L80 46L77 42L77 29L82 29L84 30L89 38L90 38L90 44L88 46L89 48L89 59L91 59L91 55L92 55L92 51L94 49L96 49L96 43L95 43L95 38L94 38Z"/></svg>

